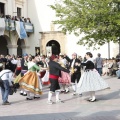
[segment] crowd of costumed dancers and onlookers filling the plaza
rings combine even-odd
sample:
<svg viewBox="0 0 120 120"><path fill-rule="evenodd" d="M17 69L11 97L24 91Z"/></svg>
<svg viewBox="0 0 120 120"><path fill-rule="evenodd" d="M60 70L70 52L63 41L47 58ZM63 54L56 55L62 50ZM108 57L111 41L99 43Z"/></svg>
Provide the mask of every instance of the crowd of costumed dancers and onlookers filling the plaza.
<svg viewBox="0 0 120 120"><path fill-rule="evenodd" d="M104 63L104 64L103 64ZM0 82L3 105L10 105L8 101L10 86L19 84L20 95L26 96L26 100L39 99L44 91L43 85L49 85L48 104L53 104L52 95L56 95L56 103L63 103L60 93L67 94L72 86L72 95L80 95L89 92L89 102L95 102L95 92L109 88L101 77L105 74L106 61L98 54L96 59L87 52L85 58L72 54L69 58L66 54L32 56L1 55L0 56ZM114 65L112 65L114 66ZM84 70L81 73L81 69ZM111 69L110 69L111 70ZM98 72L97 72L98 71ZM113 71L111 72L114 73ZM107 74L107 72L106 72Z"/></svg>

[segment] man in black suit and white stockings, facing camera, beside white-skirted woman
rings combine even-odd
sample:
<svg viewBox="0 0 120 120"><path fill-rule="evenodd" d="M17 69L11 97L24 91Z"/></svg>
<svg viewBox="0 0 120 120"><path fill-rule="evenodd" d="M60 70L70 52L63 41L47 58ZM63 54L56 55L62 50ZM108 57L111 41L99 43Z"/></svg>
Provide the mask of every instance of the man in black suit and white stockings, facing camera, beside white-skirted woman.
<svg viewBox="0 0 120 120"><path fill-rule="evenodd" d="M72 83L72 88L74 90L73 95L76 95L77 83L79 82L80 77L81 77L81 61L79 59L77 59L76 53L72 54L72 59L70 59L66 55L65 55L65 58L70 63L69 69L72 72L71 83Z"/></svg>

